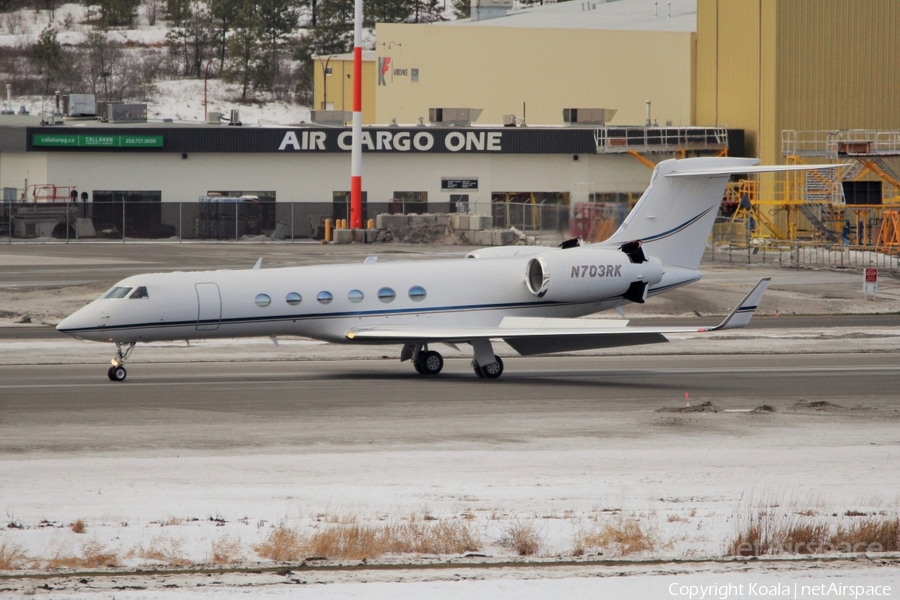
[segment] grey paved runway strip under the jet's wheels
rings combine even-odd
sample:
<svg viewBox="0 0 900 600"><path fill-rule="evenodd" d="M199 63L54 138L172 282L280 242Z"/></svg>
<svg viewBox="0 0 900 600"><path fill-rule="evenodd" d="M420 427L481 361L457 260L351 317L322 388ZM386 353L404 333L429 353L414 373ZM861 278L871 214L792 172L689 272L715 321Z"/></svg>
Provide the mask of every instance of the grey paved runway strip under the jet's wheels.
<svg viewBox="0 0 900 600"><path fill-rule="evenodd" d="M826 400L870 407L847 418L900 418L893 353L505 362L496 381L465 360L433 378L394 360L135 363L124 383L102 365L0 367L0 454L631 436L658 408L705 401L783 411Z"/></svg>

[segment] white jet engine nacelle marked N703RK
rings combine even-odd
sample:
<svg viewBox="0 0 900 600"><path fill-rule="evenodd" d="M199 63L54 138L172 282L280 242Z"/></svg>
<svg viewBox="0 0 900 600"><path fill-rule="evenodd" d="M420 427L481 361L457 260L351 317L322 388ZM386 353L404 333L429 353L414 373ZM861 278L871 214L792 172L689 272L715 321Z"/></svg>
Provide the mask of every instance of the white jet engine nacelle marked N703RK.
<svg viewBox="0 0 900 600"><path fill-rule="evenodd" d="M615 296L643 302L647 287L659 283L662 276L658 258L634 263L620 250L586 247L535 256L525 269L525 284L538 298L556 302L593 302Z"/></svg>

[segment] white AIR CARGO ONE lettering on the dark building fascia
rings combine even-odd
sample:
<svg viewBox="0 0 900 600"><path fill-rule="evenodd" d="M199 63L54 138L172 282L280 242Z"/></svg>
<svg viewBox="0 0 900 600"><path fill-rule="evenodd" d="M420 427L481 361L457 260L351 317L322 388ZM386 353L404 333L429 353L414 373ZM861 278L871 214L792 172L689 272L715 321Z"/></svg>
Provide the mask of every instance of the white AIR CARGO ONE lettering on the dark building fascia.
<svg viewBox="0 0 900 600"><path fill-rule="evenodd" d="M367 152L503 152L502 131L415 131L369 130L362 133L362 147ZM333 152L350 151L352 131L288 131L279 151Z"/></svg>

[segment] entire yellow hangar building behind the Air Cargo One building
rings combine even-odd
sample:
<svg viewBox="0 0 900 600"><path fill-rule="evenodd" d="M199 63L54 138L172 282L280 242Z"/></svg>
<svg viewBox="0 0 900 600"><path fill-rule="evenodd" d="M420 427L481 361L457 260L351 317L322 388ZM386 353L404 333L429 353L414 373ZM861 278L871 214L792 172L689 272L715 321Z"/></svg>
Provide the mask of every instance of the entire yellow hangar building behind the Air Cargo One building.
<svg viewBox="0 0 900 600"><path fill-rule="evenodd" d="M900 128L894 0L573 0L493 12L502 16L378 24L371 122L459 106L482 109L480 124L561 125L565 108L602 107L618 111L611 124L644 125L649 100L659 125L743 129L745 153L766 163L781 162L785 130ZM337 78L322 70L319 61L317 108L323 79L336 97Z"/></svg>

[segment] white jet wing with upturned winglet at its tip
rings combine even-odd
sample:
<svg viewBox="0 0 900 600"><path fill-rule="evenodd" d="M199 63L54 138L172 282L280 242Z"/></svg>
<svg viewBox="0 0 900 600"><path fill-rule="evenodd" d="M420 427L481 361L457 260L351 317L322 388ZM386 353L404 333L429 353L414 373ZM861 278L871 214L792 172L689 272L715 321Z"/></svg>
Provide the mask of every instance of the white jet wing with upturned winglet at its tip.
<svg viewBox="0 0 900 600"><path fill-rule="evenodd" d="M627 327L625 320L506 317L497 327L372 326L347 331L348 340L369 343L466 343L502 339L519 354L551 354L667 342L665 334L746 327L771 278L761 279L715 327Z"/></svg>

